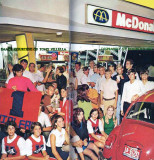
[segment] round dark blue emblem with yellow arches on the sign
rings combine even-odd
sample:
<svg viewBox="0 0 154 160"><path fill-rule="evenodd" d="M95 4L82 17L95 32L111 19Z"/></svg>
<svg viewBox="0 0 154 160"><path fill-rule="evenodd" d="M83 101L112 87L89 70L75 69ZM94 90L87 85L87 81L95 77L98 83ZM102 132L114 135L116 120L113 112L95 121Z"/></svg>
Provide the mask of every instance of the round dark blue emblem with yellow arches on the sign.
<svg viewBox="0 0 154 160"><path fill-rule="evenodd" d="M104 9L95 9L93 12L93 18L96 22L107 23L109 20L109 14Z"/></svg>

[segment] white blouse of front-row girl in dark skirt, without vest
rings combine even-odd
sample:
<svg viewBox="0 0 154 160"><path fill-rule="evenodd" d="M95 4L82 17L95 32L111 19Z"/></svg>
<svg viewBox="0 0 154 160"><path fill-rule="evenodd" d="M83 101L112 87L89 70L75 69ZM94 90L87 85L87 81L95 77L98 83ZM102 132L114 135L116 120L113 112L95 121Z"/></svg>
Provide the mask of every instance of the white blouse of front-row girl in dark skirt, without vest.
<svg viewBox="0 0 154 160"><path fill-rule="evenodd" d="M62 147L63 143L65 142L65 129L62 128L61 132L58 129L53 129L50 135L51 134L56 136L56 147ZM51 147L50 135L47 142L48 147Z"/></svg>

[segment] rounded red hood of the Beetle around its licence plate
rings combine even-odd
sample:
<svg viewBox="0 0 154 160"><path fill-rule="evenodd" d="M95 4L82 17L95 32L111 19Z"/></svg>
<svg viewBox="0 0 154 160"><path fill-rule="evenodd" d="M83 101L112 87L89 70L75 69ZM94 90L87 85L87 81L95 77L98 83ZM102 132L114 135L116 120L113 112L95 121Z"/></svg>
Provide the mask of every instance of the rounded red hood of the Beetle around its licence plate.
<svg viewBox="0 0 154 160"><path fill-rule="evenodd" d="M154 125L132 119L125 119L124 122L121 124L117 144L117 158L127 159L123 156L125 146L140 150L140 160L154 157Z"/></svg>

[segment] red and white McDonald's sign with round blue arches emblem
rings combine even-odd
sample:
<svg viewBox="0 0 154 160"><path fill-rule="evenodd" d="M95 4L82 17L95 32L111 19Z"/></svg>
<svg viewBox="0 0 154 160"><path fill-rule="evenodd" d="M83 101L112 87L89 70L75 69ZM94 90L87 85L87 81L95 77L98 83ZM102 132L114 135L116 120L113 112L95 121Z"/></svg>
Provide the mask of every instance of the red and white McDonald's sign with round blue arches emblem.
<svg viewBox="0 0 154 160"><path fill-rule="evenodd" d="M87 5L87 23L154 33L154 20L120 11Z"/></svg>

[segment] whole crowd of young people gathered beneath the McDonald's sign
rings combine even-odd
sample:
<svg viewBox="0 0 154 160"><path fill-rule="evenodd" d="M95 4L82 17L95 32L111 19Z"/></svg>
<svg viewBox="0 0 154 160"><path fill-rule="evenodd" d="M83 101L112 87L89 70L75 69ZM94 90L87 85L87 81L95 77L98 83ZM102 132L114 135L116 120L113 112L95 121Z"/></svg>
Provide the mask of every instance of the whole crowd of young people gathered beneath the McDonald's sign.
<svg viewBox="0 0 154 160"><path fill-rule="evenodd" d="M107 67L89 61L58 66L23 59L9 65L6 88L41 92L38 120L31 130L18 128L14 121L0 126L1 160L91 160L102 158L109 134L121 123L131 102L154 89L148 68L139 73L133 61L109 63Z"/></svg>

